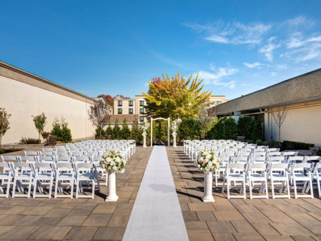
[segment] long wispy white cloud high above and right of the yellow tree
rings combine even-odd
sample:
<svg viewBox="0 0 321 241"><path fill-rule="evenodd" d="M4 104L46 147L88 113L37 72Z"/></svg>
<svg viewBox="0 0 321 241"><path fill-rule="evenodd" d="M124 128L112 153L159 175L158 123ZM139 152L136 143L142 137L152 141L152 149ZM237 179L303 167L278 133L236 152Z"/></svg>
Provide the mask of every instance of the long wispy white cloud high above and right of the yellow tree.
<svg viewBox="0 0 321 241"><path fill-rule="evenodd" d="M212 25L184 24L186 27L196 32L206 32L207 41L214 43L232 43L232 44L258 44L261 43L263 35L271 28L272 24L264 23L224 23L217 21Z"/></svg>

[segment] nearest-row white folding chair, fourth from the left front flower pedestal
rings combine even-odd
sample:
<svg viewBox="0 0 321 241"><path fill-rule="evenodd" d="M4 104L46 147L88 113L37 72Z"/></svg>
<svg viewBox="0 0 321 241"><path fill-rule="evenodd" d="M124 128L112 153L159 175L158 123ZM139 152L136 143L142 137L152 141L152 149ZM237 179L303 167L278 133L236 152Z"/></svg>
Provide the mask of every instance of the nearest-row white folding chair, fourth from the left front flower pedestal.
<svg viewBox="0 0 321 241"><path fill-rule="evenodd" d="M12 198L15 197L27 197L30 198L32 182L34 180L34 172L30 163L11 163L12 171L14 173ZM16 194L16 188L23 194ZM25 188L27 193L24 194Z"/></svg>

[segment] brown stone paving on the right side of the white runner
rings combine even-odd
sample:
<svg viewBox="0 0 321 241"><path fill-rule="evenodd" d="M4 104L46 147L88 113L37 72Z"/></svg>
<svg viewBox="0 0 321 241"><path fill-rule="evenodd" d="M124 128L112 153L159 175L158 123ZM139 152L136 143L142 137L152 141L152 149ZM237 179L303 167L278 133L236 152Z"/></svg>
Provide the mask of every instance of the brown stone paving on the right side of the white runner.
<svg viewBox="0 0 321 241"><path fill-rule="evenodd" d="M228 200L219 187L213 188L215 202L204 203L203 173L183 147L167 152L190 241L321 240L319 198Z"/></svg>

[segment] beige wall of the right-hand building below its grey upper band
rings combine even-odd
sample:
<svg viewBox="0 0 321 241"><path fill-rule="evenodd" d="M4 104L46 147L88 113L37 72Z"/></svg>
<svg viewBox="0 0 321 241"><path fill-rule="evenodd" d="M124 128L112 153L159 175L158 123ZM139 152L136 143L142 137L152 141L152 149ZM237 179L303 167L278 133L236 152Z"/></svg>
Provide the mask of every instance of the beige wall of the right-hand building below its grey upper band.
<svg viewBox="0 0 321 241"><path fill-rule="evenodd" d="M321 146L321 100L283 107L287 109L287 117L281 126L281 141L291 140ZM265 138L278 141L278 126L272 117L275 109L269 109L265 113Z"/></svg>

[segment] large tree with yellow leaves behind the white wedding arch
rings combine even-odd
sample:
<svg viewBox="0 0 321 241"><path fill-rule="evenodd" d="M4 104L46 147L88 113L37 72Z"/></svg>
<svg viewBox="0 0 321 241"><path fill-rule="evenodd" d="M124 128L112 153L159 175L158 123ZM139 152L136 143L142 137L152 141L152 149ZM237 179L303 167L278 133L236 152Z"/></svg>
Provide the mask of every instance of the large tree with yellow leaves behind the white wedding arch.
<svg viewBox="0 0 321 241"><path fill-rule="evenodd" d="M163 74L163 79L148 81L148 93L142 92L146 98L146 115L172 119L197 117L199 108L210 101L212 95L212 92L201 92L203 80L198 81L198 78L199 74L196 78L190 75L186 81L178 72L172 78Z"/></svg>

